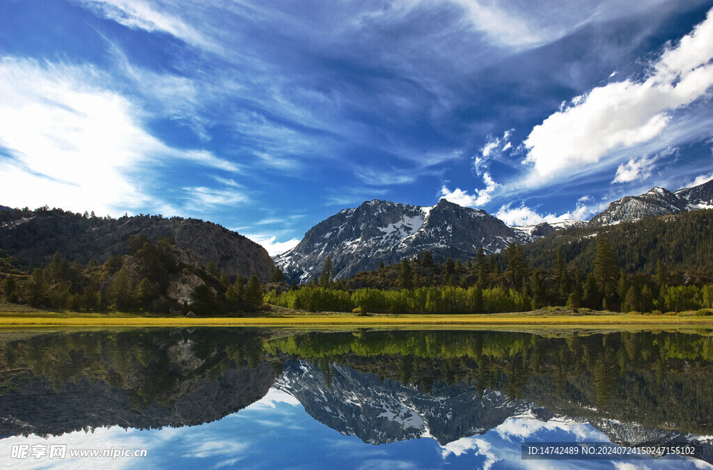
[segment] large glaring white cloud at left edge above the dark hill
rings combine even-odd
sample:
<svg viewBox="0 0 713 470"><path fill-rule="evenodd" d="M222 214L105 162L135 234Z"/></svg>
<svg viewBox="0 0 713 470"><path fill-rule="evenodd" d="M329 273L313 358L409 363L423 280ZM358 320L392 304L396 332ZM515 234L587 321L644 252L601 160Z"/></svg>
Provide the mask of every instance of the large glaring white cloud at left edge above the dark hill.
<svg viewBox="0 0 713 470"><path fill-rule="evenodd" d="M159 141L143 128L143 111L111 83L91 66L0 58L0 148L11 157L0 157L4 204L110 215L161 210L168 206L148 194L149 164L180 159L239 170L205 150ZM205 199L205 191L195 193Z"/></svg>

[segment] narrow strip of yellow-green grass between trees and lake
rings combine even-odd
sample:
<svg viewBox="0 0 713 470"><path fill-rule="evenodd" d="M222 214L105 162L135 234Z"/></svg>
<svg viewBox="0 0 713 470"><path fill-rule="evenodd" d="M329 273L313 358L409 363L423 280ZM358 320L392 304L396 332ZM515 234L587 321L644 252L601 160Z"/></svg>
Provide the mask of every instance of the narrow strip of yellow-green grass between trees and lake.
<svg viewBox="0 0 713 470"><path fill-rule="evenodd" d="M388 315L358 316L349 313L307 313L284 308L255 317L158 317L128 313L0 312L0 327L566 327L583 329L652 329L660 327L712 327L713 317L693 315L632 315L587 312L571 315L566 310L536 310L523 313L478 315Z"/></svg>

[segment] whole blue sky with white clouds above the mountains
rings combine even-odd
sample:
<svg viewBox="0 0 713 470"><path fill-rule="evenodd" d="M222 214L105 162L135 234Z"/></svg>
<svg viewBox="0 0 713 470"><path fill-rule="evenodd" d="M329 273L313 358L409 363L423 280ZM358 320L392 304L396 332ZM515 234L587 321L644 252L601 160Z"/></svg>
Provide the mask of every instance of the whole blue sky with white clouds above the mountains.
<svg viewBox="0 0 713 470"><path fill-rule="evenodd" d="M0 205L588 220L713 178L712 102L713 0L0 0Z"/></svg>

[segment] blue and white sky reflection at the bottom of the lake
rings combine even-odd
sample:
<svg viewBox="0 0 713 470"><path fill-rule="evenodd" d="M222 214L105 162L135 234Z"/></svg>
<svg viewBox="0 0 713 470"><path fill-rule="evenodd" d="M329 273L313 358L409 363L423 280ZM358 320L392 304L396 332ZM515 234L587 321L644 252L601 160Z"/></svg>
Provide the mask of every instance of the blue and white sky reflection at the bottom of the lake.
<svg viewBox="0 0 713 470"><path fill-rule="evenodd" d="M306 442L309 441L309 444ZM529 460L522 459L523 442L608 442L590 424L540 422L509 418L485 434L463 437L441 446L436 439L395 441L378 446L356 436L344 436L312 418L297 399L270 389L249 407L215 422L163 429L123 429L119 426L76 431L43 438L0 439L0 459L19 469L709 469L697 459ZM64 459L39 454L8 459L12 447L65 445ZM145 449L145 456L71 458L78 449ZM646 456L645 456L646 457Z"/></svg>

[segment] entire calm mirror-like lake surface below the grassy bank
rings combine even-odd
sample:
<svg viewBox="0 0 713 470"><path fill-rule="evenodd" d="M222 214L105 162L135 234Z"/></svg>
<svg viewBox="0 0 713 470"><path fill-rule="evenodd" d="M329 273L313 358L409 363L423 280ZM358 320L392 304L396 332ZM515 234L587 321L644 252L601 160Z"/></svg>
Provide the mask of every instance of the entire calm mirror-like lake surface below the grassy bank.
<svg viewBox="0 0 713 470"><path fill-rule="evenodd" d="M708 331L0 334L5 468L713 468L711 426ZM92 451L116 458L75 455Z"/></svg>

